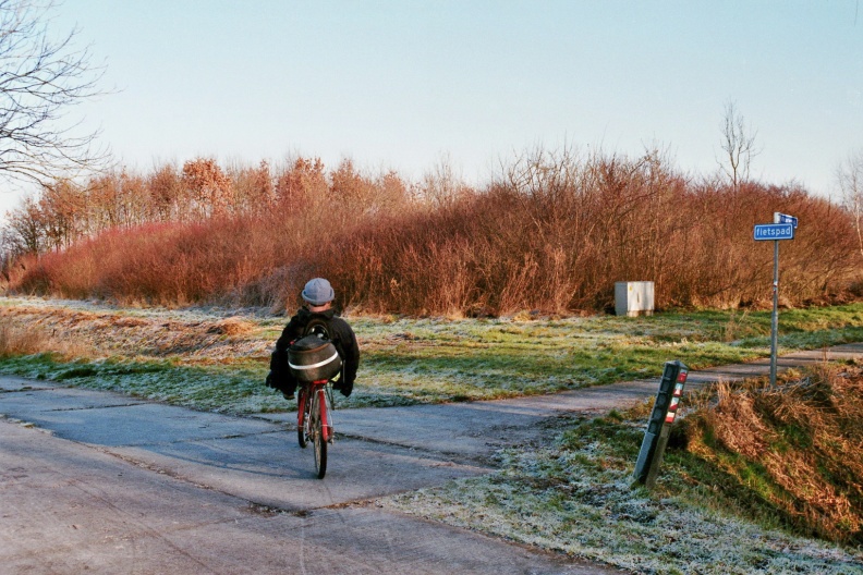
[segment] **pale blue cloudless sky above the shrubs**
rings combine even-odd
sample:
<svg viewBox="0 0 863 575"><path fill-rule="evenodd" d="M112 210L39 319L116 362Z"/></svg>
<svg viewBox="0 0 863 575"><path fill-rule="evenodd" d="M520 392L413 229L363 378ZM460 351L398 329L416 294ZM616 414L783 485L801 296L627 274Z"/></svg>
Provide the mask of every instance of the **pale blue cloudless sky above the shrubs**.
<svg viewBox="0 0 863 575"><path fill-rule="evenodd" d="M753 174L835 191L863 148L858 0L65 0L105 87L74 111L127 166L392 168L443 155L472 183L542 144L717 169L725 102L754 130Z"/></svg>

